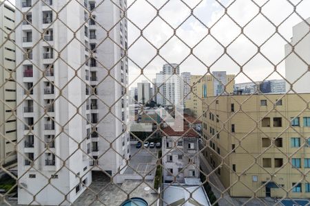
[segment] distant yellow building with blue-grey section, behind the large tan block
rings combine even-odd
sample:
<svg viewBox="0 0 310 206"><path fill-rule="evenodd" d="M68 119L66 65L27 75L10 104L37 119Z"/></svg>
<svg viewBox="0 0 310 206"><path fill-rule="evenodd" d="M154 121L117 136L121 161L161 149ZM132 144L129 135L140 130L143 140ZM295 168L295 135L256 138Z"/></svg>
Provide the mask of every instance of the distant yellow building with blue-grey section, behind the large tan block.
<svg viewBox="0 0 310 206"><path fill-rule="evenodd" d="M235 76L225 71L214 71L211 75L192 75L191 99L185 101L185 108L189 108L192 115L200 118L203 115L203 98L225 95L234 92ZM226 89L224 90L224 86Z"/></svg>

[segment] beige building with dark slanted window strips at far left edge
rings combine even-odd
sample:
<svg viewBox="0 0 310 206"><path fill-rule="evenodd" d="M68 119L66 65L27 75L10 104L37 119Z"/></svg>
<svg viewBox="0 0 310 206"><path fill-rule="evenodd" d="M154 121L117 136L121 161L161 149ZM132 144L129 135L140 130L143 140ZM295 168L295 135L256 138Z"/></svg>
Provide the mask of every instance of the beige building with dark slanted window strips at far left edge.
<svg viewBox="0 0 310 206"><path fill-rule="evenodd" d="M17 144L17 118L15 73L15 10L0 1L0 164L11 165L17 160L14 145ZM8 38L10 34L10 38Z"/></svg>

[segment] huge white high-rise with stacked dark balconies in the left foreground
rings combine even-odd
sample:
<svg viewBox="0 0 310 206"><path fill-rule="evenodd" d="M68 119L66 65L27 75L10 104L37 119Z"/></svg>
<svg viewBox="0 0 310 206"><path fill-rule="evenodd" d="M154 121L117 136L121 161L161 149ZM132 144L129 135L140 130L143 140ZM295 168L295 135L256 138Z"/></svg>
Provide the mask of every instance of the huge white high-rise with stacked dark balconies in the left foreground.
<svg viewBox="0 0 310 206"><path fill-rule="evenodd" d="M118 182L129 154L123 126L127 26L122 20L113 27L123 12L110 1L35 2L17 1L25 12L25 19L16 14L23 21L16 31L23 48L17 52L17 82L23 85L17 88L23 120L17 122L23 142L18 203L70 205L92 182L92 170L105 170Z"/></svg>

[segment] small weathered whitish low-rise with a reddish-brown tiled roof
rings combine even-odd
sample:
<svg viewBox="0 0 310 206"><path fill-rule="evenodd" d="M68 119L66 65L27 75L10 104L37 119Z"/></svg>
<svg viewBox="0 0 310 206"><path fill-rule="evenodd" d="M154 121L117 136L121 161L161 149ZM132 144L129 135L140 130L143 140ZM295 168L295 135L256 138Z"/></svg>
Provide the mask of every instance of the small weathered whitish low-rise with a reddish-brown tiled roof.
<svg viewBox="0 0 310 206"><path fill-rule="evenodd" d="M163 181L184 183L185 178L198 178L200 160L196 155L199 135L185 123L183 131L175 131L167 126L162 134Z"/></svg>

